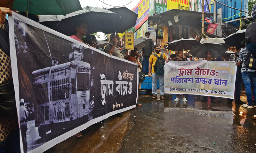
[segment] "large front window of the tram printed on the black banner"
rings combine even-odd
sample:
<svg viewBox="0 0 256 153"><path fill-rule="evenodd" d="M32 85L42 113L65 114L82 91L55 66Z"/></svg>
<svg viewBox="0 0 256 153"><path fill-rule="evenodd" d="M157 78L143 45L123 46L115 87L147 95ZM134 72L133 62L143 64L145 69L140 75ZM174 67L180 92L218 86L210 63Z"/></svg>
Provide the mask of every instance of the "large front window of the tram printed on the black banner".
<svg viewBox="0 0 256 153"><path fill-rule="evenodd" d="M77 91L89 90L89 73L76 73Z"/></svg>

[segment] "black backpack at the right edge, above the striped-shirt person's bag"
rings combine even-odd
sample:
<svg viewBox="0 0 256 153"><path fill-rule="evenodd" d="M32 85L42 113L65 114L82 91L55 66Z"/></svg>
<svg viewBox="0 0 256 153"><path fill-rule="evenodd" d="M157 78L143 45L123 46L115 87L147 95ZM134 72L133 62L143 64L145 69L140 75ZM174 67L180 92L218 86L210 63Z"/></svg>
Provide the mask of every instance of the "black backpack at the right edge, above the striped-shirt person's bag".
<svg viewBox="0 0 256 153"><path fill-rule="evenodd" d="M245 31L245 46L249 52L256 53L256 21L254 20Z"/></svg>

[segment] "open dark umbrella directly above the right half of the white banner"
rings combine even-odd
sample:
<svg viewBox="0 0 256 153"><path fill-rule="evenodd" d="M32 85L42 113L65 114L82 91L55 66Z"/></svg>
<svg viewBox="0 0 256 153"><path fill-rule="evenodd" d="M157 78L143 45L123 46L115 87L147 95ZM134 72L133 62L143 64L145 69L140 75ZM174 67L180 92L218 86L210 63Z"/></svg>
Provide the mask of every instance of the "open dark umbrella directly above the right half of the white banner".
<svg viewBox="0 0 256 153"><path fill-rule="evenodd" d="M193 46L188 53L193 55L194 57L206 58L206 51L211 51L212 57L214 58L221 56L223 53L227 51L227 49L218 42L205 42L201 43L200 45Z"/></svg>

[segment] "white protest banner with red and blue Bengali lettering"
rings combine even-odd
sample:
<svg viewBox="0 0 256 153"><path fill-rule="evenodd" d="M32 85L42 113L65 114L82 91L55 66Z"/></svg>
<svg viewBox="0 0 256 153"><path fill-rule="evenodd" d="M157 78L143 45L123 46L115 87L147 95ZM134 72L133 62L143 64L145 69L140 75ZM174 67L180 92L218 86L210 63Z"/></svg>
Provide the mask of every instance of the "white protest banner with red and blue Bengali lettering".
<svg viewBox="0 0 256 153"><path fill-rule="evenodd" d="M164 92L234 98L236 62L169 61L164 65Z"/></svg>

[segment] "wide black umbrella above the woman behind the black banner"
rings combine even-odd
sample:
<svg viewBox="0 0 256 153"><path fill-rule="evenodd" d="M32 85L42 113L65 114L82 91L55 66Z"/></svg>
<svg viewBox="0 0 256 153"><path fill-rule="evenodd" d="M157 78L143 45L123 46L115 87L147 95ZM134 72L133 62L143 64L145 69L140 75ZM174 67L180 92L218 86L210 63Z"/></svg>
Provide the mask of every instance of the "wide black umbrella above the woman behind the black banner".
<svg viewBox="0 0 256 153"><path fill-rule="evenodd" d="M114 33L114 26L111 26L111 21L116 20L116 14L106 8L98 8L86 6L83 10L75 11L67 14L54 30L71 36L76 34L74 22L76 20L84 20L87 23L87 34L103 32L105 34Z"/></svg>

